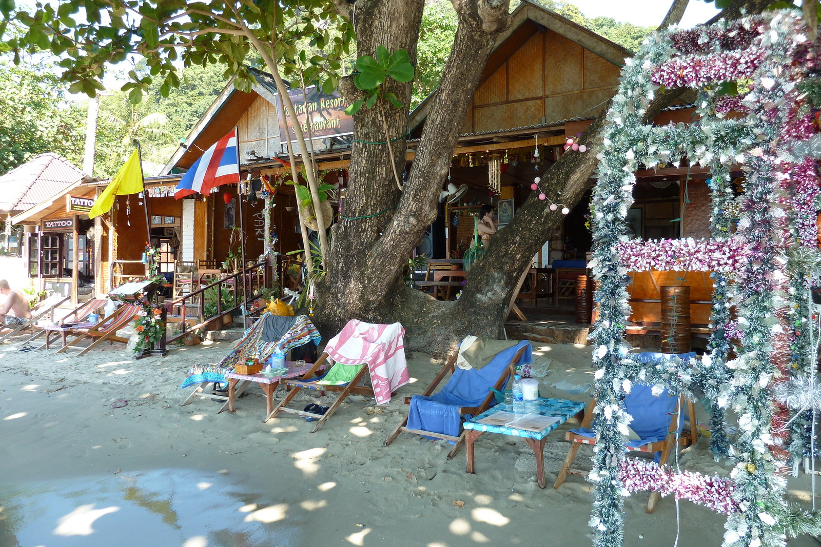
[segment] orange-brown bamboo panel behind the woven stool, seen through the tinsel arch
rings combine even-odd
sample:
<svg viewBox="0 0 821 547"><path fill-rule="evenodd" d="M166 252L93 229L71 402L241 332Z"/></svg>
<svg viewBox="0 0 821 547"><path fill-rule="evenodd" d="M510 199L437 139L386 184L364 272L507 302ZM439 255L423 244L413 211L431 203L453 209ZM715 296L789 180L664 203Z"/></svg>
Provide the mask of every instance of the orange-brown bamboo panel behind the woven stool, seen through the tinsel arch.
<svg viewBox="0 0 821 547"><path fill-rule="evenodd" d="M658 323L661 321L661 291L665 285L690 286L690 323L707 325L710 322L711 304L699 304L699 300L713 299L713 280L709 271L631 271L627 292L631 299L658 300L658 302L631 302L633 312L629 317L634 322ZM684 280L677 279L683 277Z"/></svg>

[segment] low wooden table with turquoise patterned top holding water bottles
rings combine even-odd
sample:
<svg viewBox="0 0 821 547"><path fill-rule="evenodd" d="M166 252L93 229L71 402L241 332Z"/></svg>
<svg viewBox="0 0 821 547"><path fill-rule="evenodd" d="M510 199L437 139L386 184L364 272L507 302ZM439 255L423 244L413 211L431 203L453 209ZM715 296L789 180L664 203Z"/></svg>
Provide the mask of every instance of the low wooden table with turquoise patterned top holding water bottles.
<svg viewBox="0 0 821 547"><path fill-rule="evenodd" d="M465 451L467 454L467 472L475 472L473 444L479 439L479 435L483 433L501 433L502 435L511 435L514 437L521 437L533 449L536 454L536 478L539 480L539 488L544 488L547 483L544 481L544 444L547 442L547 436L556 430L571 417L580 415L585 409L585 403L580 401L568 401L566 399L548 399L539 398L530 403L525 403L525 413L540 414L542 416L555 416L561 418L553 425L544 428L542 431L525 431L508 426L493 426L484 423L478 423L484 417L493 416L493 414L500 411L511 413L513 409L507 403L498 403L495 407L484 411L465 422ZM581 422L581 419L579 420Z"/></svg>

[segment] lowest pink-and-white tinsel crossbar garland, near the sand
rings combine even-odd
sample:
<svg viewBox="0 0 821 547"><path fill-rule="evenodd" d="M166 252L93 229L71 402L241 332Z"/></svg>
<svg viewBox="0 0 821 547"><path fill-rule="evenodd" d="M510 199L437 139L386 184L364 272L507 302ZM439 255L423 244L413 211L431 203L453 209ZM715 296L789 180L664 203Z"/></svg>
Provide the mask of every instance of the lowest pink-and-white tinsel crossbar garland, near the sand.
<svg viewBox="0 0 821 547"><path fill-rule="evenodd" d="M677 472L669 466L627 458L621 462L618 478L631 492L658 492L662 497L672 494L676 499L686 499L725 515L738 510L733 499L735 485L720 476Z"/></svg>

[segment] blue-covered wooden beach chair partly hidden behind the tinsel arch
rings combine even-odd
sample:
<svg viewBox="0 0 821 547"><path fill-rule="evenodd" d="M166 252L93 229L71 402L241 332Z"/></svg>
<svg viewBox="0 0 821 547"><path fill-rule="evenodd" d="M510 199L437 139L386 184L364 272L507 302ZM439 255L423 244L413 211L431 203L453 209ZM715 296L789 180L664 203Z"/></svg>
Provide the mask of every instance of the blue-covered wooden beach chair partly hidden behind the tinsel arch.
<svg viewBox="0 0 821 547"><path fill-rule="evenodd" d="M643 352L636 356L638 360L644 362L671 357L689 360L695 358L695 353L680 353L673 356L668 353ZM673 449L685 448L699 440L698 427L695 424L695 405L692 401L686 400L684 394L671 393L665 389L655 396L652 385L634 384L630 393L626 394L624 404L627 413L633 417L630 427L639 436L637 440L626 442L628 452L654 454L654 462L665 465ZM684 412L685 405L688 412L687 417L690 420L688 435L683 435L685 417L681 414ZM565 440L571 442L571 448L553 484L554 490L558 490L568 473L587 475L587 472L573 469L571 465L576 459L576 453L581 444L596 444L596 432L589 429L593 423L595 406L596 398L593 397L585 408L585 419L582 420L581 426L578 429L567 431L565 435ZM651 492L647 502L647 513L654 512L657 500L658 492Z"/></svg>

